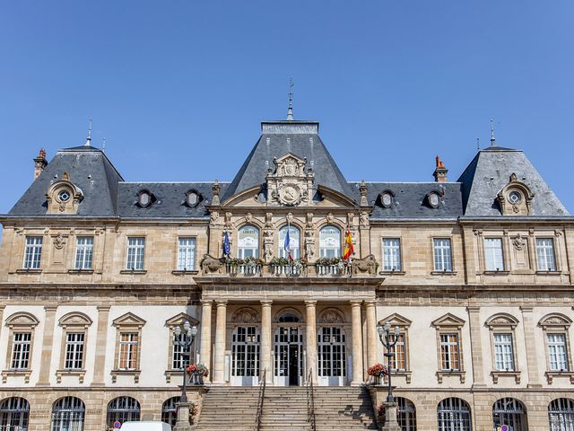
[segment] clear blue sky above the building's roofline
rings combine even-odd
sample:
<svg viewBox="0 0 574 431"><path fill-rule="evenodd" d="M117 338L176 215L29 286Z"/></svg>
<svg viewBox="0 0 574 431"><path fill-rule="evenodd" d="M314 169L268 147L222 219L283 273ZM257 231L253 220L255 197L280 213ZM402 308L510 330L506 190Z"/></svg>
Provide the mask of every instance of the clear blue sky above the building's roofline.
<svg viewBox="0 0 574 431"><path fill-rule="evenodd" d="M317 119L347 180L457 180L525 150L574 213L574 2L0 0L0 212L40 146L126 180L231 180L265 119Z"/></svg>

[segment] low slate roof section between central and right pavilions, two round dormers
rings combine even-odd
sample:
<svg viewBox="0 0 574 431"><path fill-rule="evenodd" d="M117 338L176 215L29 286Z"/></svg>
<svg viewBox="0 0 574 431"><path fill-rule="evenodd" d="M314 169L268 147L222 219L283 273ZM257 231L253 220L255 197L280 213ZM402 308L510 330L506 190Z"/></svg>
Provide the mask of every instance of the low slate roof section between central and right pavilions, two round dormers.
<svg viewBox="0 0 574 431"><path fill-rule="evenodd" d="M359 200L361 182L350 182ZM371 220L401 218L457 218L463 215L461 184L459 182L367 182L367 199L374 207ZM391 207L383 207L379 195L390 190L395 196ZM431 191L442 194L439 207L427 203Z"/></svg>

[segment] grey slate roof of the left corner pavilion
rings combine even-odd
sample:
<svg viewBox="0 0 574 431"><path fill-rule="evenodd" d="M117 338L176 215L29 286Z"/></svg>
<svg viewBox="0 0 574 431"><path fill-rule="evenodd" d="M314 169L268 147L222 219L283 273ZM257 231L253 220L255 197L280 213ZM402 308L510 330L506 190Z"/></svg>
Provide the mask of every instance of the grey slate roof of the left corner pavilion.
<svg viewBox="0 0 574 431"><path fill-rule="evenodd" d="M96 147L84 145L58 150L8 214L44 216L46 191L54 181L62 178L64 172L68 172L70 180L83 191L78 216L116 215L117 183L123 179L106 154Z"/></svg>

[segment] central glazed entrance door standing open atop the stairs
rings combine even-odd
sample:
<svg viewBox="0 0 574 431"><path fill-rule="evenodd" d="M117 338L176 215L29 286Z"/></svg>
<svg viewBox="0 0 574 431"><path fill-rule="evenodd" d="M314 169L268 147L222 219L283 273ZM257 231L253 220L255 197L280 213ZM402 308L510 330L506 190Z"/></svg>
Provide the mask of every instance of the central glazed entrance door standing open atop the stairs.
<svg viewBox="0 0 574 431"><path fill-rule="evenodd" d="M303 381L303 334L298 327L279 327L274 334L275 386L300 386Z"/></svg>

